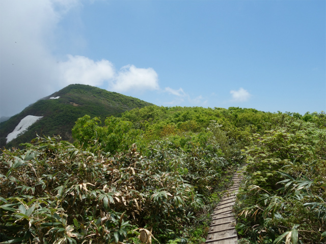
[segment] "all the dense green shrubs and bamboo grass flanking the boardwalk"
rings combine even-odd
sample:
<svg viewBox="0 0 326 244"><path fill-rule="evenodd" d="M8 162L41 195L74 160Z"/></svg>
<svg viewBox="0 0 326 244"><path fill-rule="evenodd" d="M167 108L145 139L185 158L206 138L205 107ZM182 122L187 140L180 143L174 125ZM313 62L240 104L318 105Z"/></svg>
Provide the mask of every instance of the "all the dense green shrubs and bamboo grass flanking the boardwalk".
<svg viewBox="0 0 326 244"><path fill-rule="evenodd" d="M198 243L233 172L247 162L236 206L241 241L285 242L291 231L293 243L296 233L318 243L326 231L325 120L323 113L157 106L104 122L80 117L73 144L38 137L3 151L0 238Z"/></svg>

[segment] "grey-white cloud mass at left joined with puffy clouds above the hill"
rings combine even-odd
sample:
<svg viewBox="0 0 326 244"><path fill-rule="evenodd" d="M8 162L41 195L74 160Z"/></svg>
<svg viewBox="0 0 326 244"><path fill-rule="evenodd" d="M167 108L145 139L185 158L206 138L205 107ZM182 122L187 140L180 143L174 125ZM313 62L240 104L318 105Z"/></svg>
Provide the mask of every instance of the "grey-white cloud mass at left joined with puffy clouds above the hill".
<svg viewBox="0 0 326 244"><path fill-rule="evenodd" d="M0 8L0 116L12 116L37 99L69 84L106 87L114 92L157 90L152 68L116 70L107 59L54 55L60 21L79 0L3 0Z"/></svg>

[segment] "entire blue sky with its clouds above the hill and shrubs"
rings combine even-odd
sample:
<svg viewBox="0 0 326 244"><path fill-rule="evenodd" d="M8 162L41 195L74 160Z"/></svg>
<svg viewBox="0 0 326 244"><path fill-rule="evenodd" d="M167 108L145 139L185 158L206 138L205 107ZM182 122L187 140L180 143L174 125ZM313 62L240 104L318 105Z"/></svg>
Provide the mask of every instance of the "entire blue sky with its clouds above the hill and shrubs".
<svg viewBox="0 0 326 244"><path fill-rule="evenodd" d="M325 1L2 0L1 116L71 83L162 106L326 111Z"/></svg>

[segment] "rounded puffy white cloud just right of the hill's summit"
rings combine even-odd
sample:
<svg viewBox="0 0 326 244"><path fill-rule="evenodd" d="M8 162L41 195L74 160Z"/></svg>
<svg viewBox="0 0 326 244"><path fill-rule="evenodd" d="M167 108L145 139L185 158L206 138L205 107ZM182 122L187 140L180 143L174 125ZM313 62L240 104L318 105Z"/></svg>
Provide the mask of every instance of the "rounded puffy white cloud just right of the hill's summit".
<svg viewBox="0 0 326 244"><path fill-rule="evenodd" d="M152 68L143 69L127 65L116 74L109 89L115 92L158 90L158 76Z"/></svg>

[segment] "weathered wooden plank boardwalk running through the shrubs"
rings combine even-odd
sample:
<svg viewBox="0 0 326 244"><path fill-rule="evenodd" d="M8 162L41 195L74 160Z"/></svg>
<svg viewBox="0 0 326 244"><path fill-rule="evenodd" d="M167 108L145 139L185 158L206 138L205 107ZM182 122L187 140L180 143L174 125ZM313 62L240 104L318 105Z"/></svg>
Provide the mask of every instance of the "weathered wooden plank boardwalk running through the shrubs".
<svg viewBox="0 0 326 244"><path fill-rule="evenodd" d="M235 219L232 213L232 205L236 199L239 185L242 180L242 173L233 175L233 186L224 194L220 203L215 207L212 214L206 243L209 244L235 244L238 243L238 236L235 226Z"/></svg>

